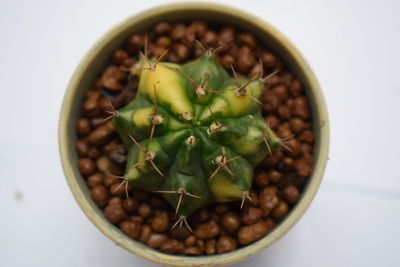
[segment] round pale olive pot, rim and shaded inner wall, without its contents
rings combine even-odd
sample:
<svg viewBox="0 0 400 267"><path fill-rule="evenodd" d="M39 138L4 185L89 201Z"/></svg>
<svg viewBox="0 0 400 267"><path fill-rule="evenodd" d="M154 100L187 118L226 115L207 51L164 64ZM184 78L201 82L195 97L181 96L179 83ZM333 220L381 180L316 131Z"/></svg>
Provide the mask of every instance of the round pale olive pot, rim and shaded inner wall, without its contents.
<svg viewBox="0 0 400 267"><path fill-rule="evenodd" d="M286 66L303 83L308 95L315 133L314 171L302 192L302 197L286 218L259 241L238 250L213 256L175 256L154 250L122 233L111 224L90 197L90 191L77 169L75 125L85 91L109 60L112 51L134 32L144 32L152 24L162 20L188 21L201 19L228 23L253 33L262 44L268 44ZM321 182L328 160L329 124L321 88L310 66L294 45L273 26L242 10L206 2L180 2L158 6L133 15L104 34L87 52L68 85L59 123L61 161L68 185L82 211L113 242L150 261L173 266L217 266L243 260L267 248L281 238L301 218Z"/></svg>

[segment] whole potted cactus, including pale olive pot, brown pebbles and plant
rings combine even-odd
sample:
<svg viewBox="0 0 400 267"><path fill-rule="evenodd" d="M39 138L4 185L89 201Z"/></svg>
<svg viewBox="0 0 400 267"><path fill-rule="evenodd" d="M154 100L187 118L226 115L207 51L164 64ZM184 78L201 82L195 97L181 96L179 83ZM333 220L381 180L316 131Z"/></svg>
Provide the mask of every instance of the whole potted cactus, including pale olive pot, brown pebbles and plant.
<svg viewBox="0 0 400 267"><path fill-rule="evenodd" d="M59 141L71 191L105 235L155 262L211 266L297 222L322 179L329 127L314 74L281 33L185 2L132 16L93 46Z"/></svg>

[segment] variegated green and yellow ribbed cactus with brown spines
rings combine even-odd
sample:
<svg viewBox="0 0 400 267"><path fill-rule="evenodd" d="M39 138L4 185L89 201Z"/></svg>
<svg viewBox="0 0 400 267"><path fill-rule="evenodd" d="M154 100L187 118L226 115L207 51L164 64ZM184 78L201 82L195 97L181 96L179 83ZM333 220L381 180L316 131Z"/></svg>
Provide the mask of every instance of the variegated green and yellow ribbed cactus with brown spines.
<svg viewBox="0 0 400 267"><path fill-rule="evenodd" d="M129 151L125 186L162 194L175 226L212 202L251 200L254 166L282 144L261 115L262 74L231 77L205 51L183 65L141 54L137 96L112 114Z"/></svg>

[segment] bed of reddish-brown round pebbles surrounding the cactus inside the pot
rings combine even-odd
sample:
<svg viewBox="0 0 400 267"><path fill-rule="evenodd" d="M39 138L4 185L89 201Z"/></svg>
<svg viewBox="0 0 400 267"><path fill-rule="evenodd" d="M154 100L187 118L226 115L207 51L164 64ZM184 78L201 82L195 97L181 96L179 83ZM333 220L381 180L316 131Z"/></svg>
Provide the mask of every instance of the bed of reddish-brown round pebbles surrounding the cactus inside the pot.
<svg viewBox="0 0 400 267"><path fill-rule="evenodd" d="M194 42L199 40L208 47L222 46L217 56L228 71L233 65L239 74L252 77L261 71L259 59L264 75L280 70L266 81L262 111L266 122L285 139L291 151L281 147L256 167L250 192L253 201L242 210L237 202L216 203L190 216L193 233L185 227L171 229L176 221L174 211L158 195L129 187L127 198L125 187L119 186L121 180L108 175L123 175L127 152L112 124L104 119L112 106L119 109L136 95L138 80L129 77L124 68L139 60L145 37L133 34L110 55L109 64L87 91L76 124L77 167L93 201L123 233L169 254L226 253L259 240L296 205L313 171L316 137L305 88L272 51L260 47L252 34L230 26L202 21L160 22L148 31L148 38L150 57L170 49L167 61L191 60L203 53Z"/></svg>

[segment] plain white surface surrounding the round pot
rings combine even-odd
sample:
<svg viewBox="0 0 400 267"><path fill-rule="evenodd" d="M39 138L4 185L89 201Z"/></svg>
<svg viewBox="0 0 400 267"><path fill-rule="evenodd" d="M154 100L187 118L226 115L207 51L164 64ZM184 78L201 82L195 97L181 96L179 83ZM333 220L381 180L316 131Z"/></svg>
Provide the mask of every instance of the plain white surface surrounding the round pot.
<svg viewBox="0 0 400 267"><path fill-rule="evenodd" d="M0 266L158 266L84 216L57 148L74 68L111 26L168 1L0 2ZM400 4L235 1L303 52L323 87L330 161L315 201L241 266L400 266Z"/></svg>

